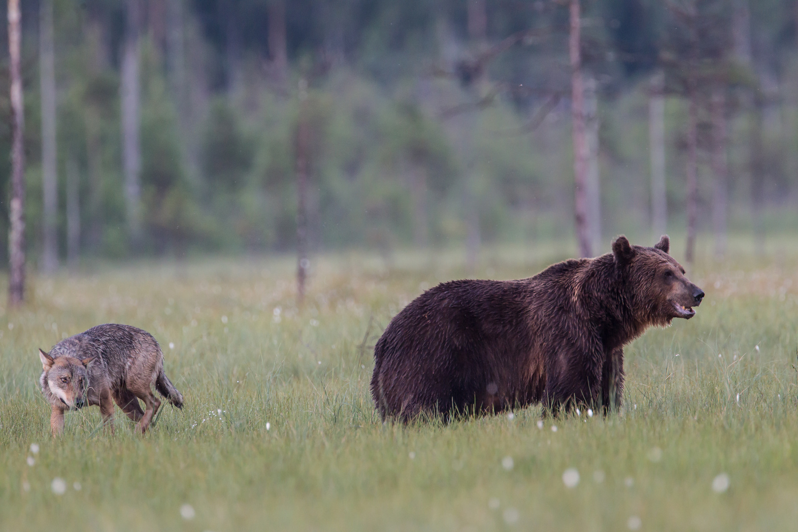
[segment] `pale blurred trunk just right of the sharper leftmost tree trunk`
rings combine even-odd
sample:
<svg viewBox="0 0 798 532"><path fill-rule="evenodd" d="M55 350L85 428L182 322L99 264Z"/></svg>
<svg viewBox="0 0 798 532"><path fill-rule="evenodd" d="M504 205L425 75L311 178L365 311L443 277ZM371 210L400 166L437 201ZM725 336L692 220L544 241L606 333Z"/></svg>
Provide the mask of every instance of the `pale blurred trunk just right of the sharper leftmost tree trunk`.
<svg viewBox="0 0 798 532"><path fill-rule="evenodd" d="M39 3L39 81L41 84L41 191L44 247L41 269L51 274L58 268L57 242L57 167L56 167L56 104L55 51L53 49L53 1Z"/></svg>

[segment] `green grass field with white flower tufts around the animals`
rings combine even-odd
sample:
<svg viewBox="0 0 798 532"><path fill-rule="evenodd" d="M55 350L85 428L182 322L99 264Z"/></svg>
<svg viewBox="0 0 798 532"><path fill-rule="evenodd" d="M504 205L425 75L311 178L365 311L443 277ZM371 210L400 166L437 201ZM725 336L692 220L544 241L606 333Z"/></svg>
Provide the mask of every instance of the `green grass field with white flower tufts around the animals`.
<svg viewBox="0 0 798 532"><path fill-rule="evenodd" d="M291 258L34 276L0 311L0 530L796 530L796 248L701 259L697 316L626 349L622 412L543 428L538 407L447 426L374 412L374 342L464 276L459 254L322 256L302 309ZM567 254L493 250L477 276ZM53 440L36 349L109 321L155 335L185 408L144 438L84 409Z"/></svg>

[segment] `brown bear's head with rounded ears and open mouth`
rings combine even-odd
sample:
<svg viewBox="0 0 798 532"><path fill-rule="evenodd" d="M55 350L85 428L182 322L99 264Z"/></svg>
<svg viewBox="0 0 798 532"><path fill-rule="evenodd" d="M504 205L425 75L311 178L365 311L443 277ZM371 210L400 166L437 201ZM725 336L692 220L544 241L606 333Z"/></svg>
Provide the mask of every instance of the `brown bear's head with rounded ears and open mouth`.
<svg viewBox="0 0 798 532"><path fill-rule="evenodd" d="M666 234L654 247L632 246L623 235L612 242L615 263L630 285L630 305L640 323L670 325L674 317L689 319L704 298L704 291L689 282L669 250Z"/></svg>

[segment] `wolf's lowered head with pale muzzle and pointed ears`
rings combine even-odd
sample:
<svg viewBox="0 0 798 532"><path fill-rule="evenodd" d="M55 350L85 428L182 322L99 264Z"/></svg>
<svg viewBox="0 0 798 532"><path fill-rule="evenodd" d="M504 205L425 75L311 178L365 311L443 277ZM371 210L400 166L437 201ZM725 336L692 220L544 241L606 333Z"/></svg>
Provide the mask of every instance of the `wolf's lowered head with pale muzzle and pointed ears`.
<svg viewBox="0 0 798 532"><path fill-rule="evenodd" d="M41 391L47 391L53 400L69 410L83 408L87 403L86 392L89 388L89 372L86 366L94 357L79 359L77 357L50 357L39 349L39 359L44 372L41 374Z"/></svg>

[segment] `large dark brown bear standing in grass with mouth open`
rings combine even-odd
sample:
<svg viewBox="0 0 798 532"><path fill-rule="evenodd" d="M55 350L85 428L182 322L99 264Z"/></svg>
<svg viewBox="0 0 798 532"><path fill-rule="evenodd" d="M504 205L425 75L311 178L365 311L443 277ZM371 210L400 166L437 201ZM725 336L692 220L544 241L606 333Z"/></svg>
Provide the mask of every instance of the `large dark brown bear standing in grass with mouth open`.
<svg viewBox="0 0 798 532"><path fill-rule="evenodd" d="M517 281L444 282L405 306L374 348L382 419L618 408L623 346L650 325L689 319L704 292L669 254L625 236L612 253Z"/></svg>

